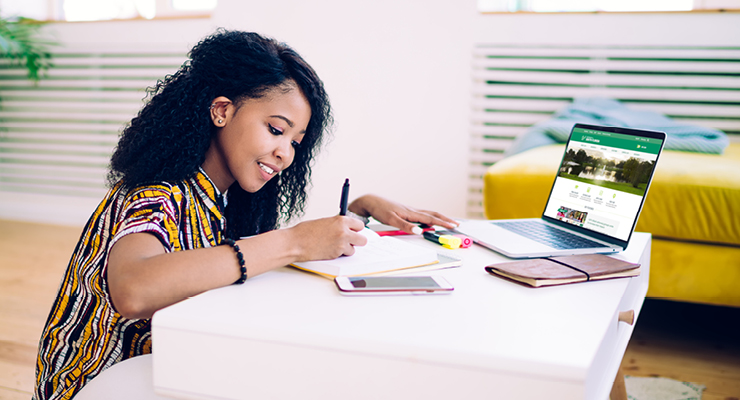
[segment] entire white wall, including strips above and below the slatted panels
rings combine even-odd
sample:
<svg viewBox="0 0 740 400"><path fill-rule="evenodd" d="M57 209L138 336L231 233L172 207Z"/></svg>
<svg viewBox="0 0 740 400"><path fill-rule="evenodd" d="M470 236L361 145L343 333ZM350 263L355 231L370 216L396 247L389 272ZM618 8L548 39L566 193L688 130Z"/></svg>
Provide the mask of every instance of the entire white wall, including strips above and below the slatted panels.
<svg viewBox="0 0 740 400"><path fill-rule="evenodd" d="M289 43L326 84L336 129L314 169L307 218L337 212L346 177L353 197L375 192L464 217L473 43L740 45L738 13L479 15L475 0L220 0L211 19L49 30L70 45L186 51L218 26ZM98 199L55 198L24 211L44 201L0 193L0 218L81 225Z"/></svg>

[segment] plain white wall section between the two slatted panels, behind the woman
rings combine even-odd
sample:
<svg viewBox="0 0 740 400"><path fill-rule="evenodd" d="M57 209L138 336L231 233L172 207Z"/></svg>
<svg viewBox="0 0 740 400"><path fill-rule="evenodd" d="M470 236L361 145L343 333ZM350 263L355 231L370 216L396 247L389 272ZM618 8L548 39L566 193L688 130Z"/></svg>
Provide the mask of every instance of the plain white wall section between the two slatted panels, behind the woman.
<svg viewBox="0 0 740 400"><path fill-rule="evenodd" d="M324 80L334 140L307 218L373 192L464 217L475 1L219 0L217 25L284 41Z"/></svg>

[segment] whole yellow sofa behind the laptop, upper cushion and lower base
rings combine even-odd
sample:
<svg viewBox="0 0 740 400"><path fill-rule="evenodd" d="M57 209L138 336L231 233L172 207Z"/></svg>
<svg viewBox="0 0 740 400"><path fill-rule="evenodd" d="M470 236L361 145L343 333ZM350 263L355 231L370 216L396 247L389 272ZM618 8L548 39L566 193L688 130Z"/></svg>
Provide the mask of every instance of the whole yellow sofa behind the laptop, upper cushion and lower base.
<svg viewBox="0 0 740 400"><path fill-rule="evenodd" d="M564 145L491 166L486 218L539 217ZM653 234L648 297L740 307L740 143L722 155L664 151L637 223Z"/></svg>

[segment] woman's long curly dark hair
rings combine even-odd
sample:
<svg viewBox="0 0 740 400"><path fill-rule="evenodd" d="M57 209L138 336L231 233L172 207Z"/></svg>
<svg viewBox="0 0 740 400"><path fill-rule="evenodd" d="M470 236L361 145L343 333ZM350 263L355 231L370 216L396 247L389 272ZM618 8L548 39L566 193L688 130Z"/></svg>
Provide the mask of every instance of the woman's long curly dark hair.
<svg viewBox="0 0 740 400"><path fill-rule="evenodd" d="M173 75L147 89L147 104L123 129L108 173L110 185L134 188L194 176L216 132L209 106L218 96L235 104L292 82L311 107L293 164L256 193L235 182L225 210L228 237L276 229L301 215L311 166L332 123L329 98L311 66L284 43L256 33L217 30L195 45Z"/></svg>

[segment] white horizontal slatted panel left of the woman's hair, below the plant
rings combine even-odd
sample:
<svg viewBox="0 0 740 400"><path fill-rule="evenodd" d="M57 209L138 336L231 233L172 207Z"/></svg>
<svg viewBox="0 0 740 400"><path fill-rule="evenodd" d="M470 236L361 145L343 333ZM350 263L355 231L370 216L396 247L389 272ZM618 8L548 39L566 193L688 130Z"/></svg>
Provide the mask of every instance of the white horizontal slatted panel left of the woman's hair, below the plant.
<svg viewBox="0 0 740 400"><path fill-rule="evenodd" d="M101 198L121 129L186 55L59 49L38 83L0 62L0 191Z"/></svg>

